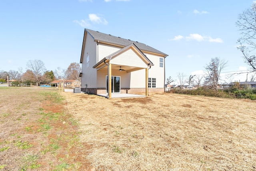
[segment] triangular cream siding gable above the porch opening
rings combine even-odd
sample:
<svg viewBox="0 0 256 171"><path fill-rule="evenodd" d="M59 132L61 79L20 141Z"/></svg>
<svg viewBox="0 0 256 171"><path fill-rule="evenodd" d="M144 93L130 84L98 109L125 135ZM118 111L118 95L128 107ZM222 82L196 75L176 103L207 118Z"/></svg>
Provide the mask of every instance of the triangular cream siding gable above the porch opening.
<svg viewBox="0 0 256 171"><path fill-rule="evenodd" d="M110 63L116 65L126 65L132 67L146 68L148 65L132 50L128 49L124 53L110 60Z"/></svg>

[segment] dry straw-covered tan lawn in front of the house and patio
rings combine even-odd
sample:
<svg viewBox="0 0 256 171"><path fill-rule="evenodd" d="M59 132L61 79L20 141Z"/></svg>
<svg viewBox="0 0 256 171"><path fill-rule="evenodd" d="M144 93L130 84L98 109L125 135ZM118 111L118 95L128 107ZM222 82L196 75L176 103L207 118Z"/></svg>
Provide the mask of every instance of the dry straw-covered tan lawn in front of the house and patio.
<svg viewBox="0 0 256 171"><path fill-rule="evenodd" d="M256 101L179 94L62 93L86 159L104 171L255 171Z"/></svg>

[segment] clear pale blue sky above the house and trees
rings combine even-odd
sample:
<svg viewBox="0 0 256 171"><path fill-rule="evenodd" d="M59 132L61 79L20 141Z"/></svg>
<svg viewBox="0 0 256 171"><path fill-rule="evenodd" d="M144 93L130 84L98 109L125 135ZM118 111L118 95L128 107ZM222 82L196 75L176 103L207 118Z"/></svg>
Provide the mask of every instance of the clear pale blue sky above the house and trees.
<svg viewBox="0 0 256 171"><path fill-rule="evenodd" d="M145 43L169 56L166 77L202 74L211 58L227 74L249 66L236 49L238 15L252 0L2 0L0 71L26 71L40 59L47 70L79 63L84 28ZM246 75L246 74L245 74ZM245 75L231 77L245 81Z"/></svg>

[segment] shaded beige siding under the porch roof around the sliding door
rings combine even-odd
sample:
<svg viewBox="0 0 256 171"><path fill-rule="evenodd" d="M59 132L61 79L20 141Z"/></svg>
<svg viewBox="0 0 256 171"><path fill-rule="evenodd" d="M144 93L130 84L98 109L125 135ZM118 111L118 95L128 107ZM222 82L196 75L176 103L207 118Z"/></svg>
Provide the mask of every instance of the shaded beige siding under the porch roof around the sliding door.
<svg viewBox="0 0 256 171"><path fill-rule="evenodd" d="M108 75L108 67L104 67L98 70L97 88L106 88L106 75ZM112 70L112 76L120 76L121 78L121 88L130 88L130 75L131 73L126 73L124 71Z"/></svg>

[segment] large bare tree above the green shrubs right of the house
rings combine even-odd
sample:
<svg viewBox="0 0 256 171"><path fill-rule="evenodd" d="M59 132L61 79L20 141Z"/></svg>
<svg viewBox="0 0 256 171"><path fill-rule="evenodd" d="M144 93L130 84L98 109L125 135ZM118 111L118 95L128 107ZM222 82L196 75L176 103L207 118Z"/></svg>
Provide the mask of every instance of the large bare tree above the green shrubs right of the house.
<svg viewBox="0 0 256 171"><path fill-rule="evenodd" d="M220 73L227 66L228 61L221 60L218 57L212 58L210 63L204 67L206 69L206 84L212 86L218 92L218 82Z"/></svg>

